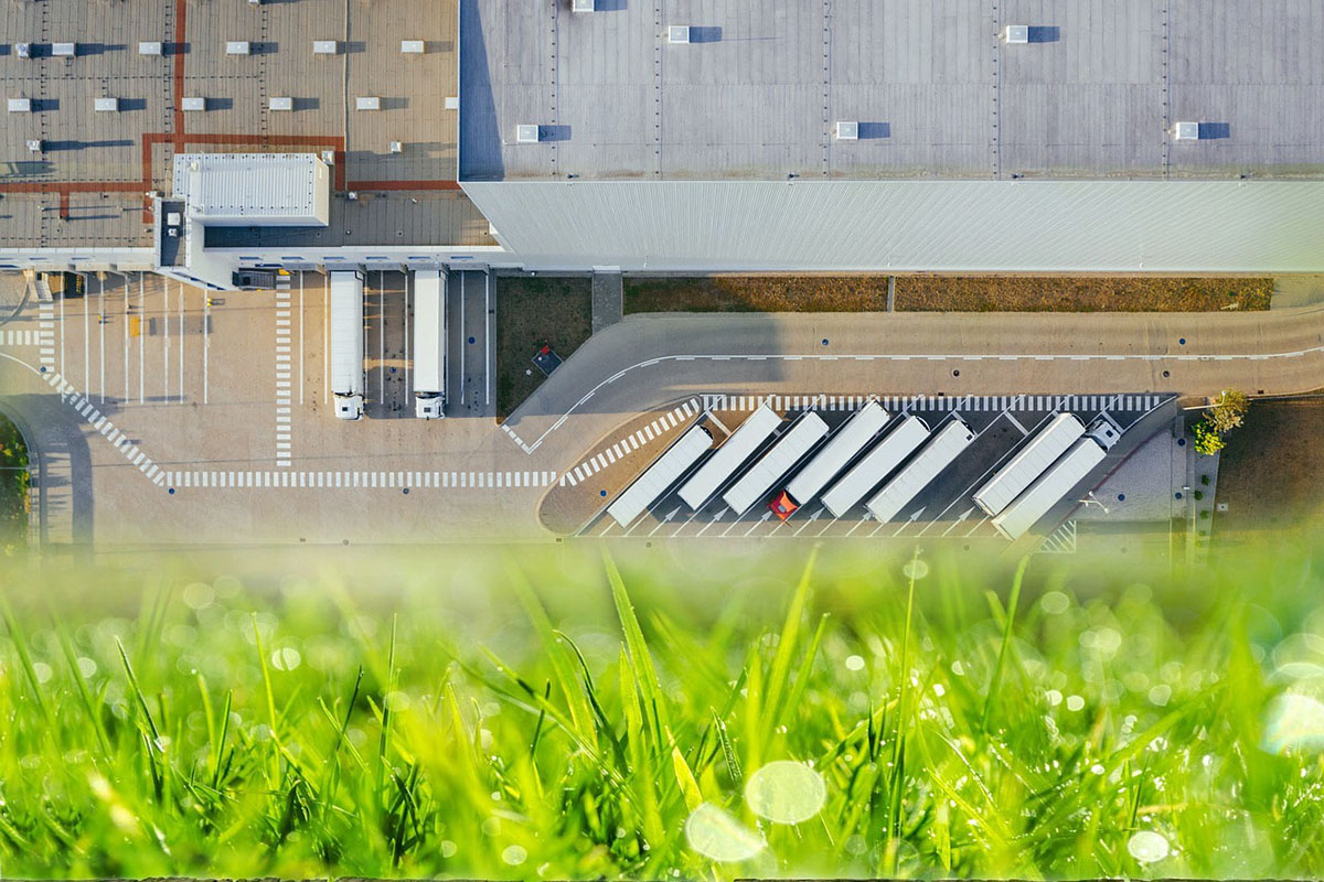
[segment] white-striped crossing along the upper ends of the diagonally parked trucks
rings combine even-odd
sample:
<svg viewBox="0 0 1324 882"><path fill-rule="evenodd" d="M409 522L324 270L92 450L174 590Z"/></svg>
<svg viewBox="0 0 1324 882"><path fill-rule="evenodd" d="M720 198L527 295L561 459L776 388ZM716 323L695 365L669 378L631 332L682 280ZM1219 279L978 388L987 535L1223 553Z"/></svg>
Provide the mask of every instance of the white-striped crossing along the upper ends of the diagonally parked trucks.
<svg viewBox="0 0 1324 882"><path fill-rule="evenodd" d="M1026 411L1148 411L1168 395L703 395L704 410L755 410L767 402L779 411L818 410L854 411L870 399L888 413L952 411L1001 413Z"/></svg>

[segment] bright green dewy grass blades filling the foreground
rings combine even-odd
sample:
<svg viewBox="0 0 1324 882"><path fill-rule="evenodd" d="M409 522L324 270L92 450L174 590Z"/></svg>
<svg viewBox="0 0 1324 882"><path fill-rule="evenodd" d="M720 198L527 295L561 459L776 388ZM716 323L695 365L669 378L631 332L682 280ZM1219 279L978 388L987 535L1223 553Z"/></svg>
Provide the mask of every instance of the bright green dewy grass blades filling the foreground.
<svg viewBox="0 0 1324 882"><path fill-rule="evenodd" d="M1324 871L1308 551L330 554L0 573L5 874Z"/></svg>

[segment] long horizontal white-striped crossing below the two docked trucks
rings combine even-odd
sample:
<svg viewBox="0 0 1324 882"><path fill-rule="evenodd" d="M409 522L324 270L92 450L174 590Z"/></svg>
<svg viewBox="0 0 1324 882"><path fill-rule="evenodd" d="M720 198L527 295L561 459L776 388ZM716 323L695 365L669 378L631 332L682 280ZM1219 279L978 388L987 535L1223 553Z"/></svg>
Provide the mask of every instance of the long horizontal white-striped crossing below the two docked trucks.
<svg viewBox="0 0 1324 882"><path fill-rule="evenodd" d="M556 472L442 472L442 471L305 471L305 469L244 469L244 471L164 471L163 480L172 491L179 489L467 489L503 491L551 487ZM158 481L160 483L160 481Z"/></svg>

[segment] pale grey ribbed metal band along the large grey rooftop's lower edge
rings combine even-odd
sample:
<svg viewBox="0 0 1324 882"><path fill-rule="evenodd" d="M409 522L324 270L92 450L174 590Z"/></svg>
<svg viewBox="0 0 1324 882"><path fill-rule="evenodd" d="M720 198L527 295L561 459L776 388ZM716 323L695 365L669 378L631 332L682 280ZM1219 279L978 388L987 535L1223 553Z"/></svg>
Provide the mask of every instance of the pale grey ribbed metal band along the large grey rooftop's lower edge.
<svg viewBox="0 0 1324 882"><path fill-rule="evenodd" d="M477 181L539 266L1324 271L1324 181Z"/></svg>

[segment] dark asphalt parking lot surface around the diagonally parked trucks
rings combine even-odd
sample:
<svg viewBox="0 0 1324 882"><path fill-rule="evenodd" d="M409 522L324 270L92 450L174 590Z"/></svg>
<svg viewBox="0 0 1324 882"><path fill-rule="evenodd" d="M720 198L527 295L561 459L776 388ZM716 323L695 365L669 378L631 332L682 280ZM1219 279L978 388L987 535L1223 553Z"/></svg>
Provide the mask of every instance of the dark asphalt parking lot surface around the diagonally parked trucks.
<svg viewBox="0 0 1324 882"><path fill-rule="evenodd" d="M784 415L779 431L759 451L745 460L744 465L727 479L722 488L739 480L749 464L768 450L797 417L813 410L828 422L829 435L820 442L800 463L802 465L813 454L826 444L833 434L871 395L773 395L760 399L752 395L706 395L704 410L692 422L702 418L715 418L719 427L735 430L752 413L760 401ZM628 529L621 528L605 514L605 506L614 495L601 497L602 508L580 532L583 537L636 537L636 538L998 538L989 518L980 510L972 493L986 481L993 472L1006 463L1022 440L1033 435L1053 415L1074 413L1088 424L1096 417L1107 415L1123 430L1140 422L1173 401L1164 394L1119 394L1119 395L968 395L968 397L898 397L873 395L891 414L888 427L898 417L914 414L924 419L929 428L940 427L945 421L959 414L976 432L973 444L956 461L928 484L906 508L888 522L876 522L866 510L863 502L851 508L842 517L834 517L817 500L796 510L785 521L773 517L767 502L781 489L767 495L763 502L753 505L740 516L735 516L723 502L719 489L712 499L698 510L691 510L678 496L677 489L685 479L670 488L659 500L649 506L647 513ZM719 439L722 438L716 435ZM887 427L884 427L884 434ZM674 436L679 436L675 431ZM1124 442L1131 440L1123 434ZM1119 444L1120 447L1120 444ZM655 452L661 454L663 448ZM711 456L711 454L708 454ZM858 458L857 458L858 459ZM1098 472L1099 479L1111 472L1117 458L1110 458ZM686 475L699 468L704 460L691 467ZM573 476L573 472L571 473ZM789 475L788 475L789 479ZM591 479L585 479L589 493L601 493ZM624 489L624 488L622 488ZM1117 518L1127 516L1125 493L1123 499L1108 502L1110 512ZM1132 500L1140 502L1140 495ZM1103 504L1086 497L1086 504Z"/></svg>

